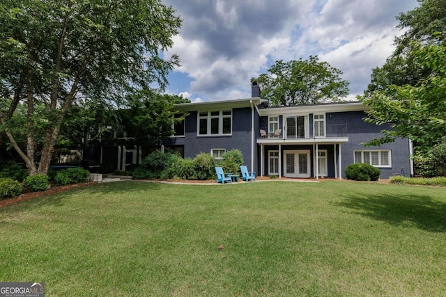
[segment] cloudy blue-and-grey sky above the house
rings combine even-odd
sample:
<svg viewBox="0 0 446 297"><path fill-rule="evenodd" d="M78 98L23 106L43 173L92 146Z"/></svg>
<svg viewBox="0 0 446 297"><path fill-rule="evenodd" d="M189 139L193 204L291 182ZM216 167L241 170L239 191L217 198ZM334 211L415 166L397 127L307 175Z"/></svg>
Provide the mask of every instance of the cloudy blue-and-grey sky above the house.
<svg viewBox="0 0 446 297"><path fill-rule="evenodd" d="M183 19L167 93L191 102L251 97L251 78L275 61L318 56L362 95L371 70L394 51L397 15L417 0L163 0Z"/></svg>

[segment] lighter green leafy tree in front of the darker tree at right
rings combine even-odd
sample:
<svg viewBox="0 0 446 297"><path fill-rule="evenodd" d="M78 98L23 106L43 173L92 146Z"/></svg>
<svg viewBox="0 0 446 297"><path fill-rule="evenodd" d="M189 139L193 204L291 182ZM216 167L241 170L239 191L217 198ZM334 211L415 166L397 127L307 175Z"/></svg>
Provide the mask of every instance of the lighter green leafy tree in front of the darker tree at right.
<svg viewBox="0 0 446 297"><path fill-rule="evenodd" d="M418 44L413 49L416 62L431 70L429 77L420 79L415 86L390 85L371 96L362 97L370 107L367 122L388 124L391 130L383 130L384 136L369 141L380 145L394 141L396 137L415 141L420 152L445 141L446 136L446 35L443 42L429 45Z"/></svg>

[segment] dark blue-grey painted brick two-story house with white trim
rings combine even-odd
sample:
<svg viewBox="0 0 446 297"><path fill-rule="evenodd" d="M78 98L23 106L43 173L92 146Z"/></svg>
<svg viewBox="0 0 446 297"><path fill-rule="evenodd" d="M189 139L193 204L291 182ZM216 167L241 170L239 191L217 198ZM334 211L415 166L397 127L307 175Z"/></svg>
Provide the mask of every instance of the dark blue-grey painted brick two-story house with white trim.
<svg viewBox="0 0 446 297"><path fill-rule="evenodd" d="M367 106L361 102L272 107L254 83L251 98L174 108L187 116L164 146L186 157L208 152L220 158L235 148L258 176L342 178L351 163L370 163L384 179L413 175L407 139L362 145L386 127L364 122Z"/></svg>

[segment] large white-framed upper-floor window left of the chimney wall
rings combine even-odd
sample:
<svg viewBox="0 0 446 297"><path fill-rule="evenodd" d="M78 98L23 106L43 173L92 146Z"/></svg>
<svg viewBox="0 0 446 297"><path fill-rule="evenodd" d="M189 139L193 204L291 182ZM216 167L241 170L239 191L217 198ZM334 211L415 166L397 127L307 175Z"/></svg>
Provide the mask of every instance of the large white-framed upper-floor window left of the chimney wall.
<svg viewBox="0 0 446 297"><path fill-rule="evenodd" d="M231 135L232 111L201 112L198 116L198 134Z"/></svg>

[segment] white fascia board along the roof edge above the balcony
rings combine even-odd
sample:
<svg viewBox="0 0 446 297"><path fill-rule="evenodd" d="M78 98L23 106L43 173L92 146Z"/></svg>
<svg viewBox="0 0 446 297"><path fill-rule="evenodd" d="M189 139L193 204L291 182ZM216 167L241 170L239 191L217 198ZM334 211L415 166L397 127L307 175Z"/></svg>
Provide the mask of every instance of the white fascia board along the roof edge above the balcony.
<svg viewBox="0 0 446 297"><path fill-rule="evenodd" d="M335 104L314 104L314 105L298 105L298 106L281 106L260 109L261 116L275 115L297 115L309 113L339 113L344 111L367 111L368 106L362 102L348 102Z"/></svg>

